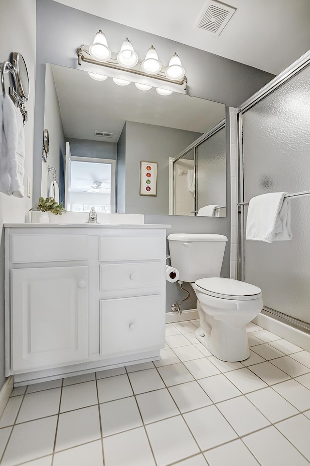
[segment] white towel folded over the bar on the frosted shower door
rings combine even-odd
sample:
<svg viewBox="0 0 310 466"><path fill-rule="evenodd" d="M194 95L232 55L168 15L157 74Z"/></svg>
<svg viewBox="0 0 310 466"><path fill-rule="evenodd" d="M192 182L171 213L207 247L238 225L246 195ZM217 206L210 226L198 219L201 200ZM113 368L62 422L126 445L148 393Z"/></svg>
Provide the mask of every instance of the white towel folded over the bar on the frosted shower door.
<svg viewBox="0 0 310 466"><path fill-rule="evenodd" d="M253 197L248 204L246 239L250 241L287 241L292 239L291 203L283 193Z"/></svg>

